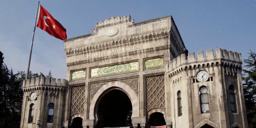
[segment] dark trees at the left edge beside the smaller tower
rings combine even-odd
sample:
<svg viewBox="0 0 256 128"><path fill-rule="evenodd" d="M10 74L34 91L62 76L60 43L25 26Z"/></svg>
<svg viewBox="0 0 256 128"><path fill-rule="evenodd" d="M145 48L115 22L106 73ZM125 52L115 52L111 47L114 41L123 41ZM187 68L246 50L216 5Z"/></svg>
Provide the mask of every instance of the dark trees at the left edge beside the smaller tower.
<svg viewBox="0 0 256 128"><path fill-rule="evenodd" d="M13 74L4 64L0 51L0 127L19 128L22 110L22 82L18 74Z"/></svg>

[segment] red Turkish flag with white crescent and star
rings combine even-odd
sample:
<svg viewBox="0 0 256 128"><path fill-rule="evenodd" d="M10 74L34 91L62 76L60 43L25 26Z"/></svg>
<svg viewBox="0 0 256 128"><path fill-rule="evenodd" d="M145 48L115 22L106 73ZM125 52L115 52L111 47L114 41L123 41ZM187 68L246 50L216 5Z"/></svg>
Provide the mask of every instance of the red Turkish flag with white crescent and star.
<svg viewBox="0 0 256 128"><path fill-rule="evenodd" d="M40 4L40 13L38 18L38 25L40 29L46 31L50 35L60 40L67 39L66 29L51 16L51 14Z"/></svg>

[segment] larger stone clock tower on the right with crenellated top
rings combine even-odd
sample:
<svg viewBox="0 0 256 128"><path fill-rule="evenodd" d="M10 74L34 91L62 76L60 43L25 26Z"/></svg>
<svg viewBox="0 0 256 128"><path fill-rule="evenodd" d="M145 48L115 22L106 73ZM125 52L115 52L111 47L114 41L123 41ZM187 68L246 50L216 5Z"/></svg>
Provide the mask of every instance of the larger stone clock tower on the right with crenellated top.
<svg viewBox="0 0 256 128"><path fill-rule="evenodd" d="M225 49L181 55L168 64L174 128L246 128L241 54ZM204 76L200 75L203 71ZM208 76L207 79L201 78Z"/></svg>

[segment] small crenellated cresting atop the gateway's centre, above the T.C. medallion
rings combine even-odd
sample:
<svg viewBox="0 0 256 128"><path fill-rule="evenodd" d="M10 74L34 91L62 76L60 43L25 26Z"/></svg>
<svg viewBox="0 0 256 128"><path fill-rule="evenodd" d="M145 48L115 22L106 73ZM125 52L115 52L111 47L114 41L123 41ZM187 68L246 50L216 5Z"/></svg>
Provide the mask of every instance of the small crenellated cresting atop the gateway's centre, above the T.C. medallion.
<svg viewBox="0 0 256 128"><path fill-rule="evenodd" d="M111 16L109 19L105 20L105 21L100 21L99 23L95 24L96 28L100 28L102 26L108 26L108 25L115 25L115 24L119 24L121 22L130 22L128 24L132 24L134 23L134 20L131 20L131 16L122 16L122 17L113 17Z"/></svg>

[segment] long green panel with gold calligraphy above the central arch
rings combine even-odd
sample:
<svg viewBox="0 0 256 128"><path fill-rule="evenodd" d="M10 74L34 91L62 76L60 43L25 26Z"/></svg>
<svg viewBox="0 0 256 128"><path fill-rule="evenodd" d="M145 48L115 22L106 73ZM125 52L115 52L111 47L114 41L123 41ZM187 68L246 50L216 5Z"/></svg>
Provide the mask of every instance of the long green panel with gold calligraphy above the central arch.
<svg viewBox="0 0 256 128"><path fill-rule="evenodd" d="M107 75L117 75L121 73L129 73L139 71L139 62L130 62L126 64L117 64L101 68L92 68L90 77L102 77Z"/></svg>

